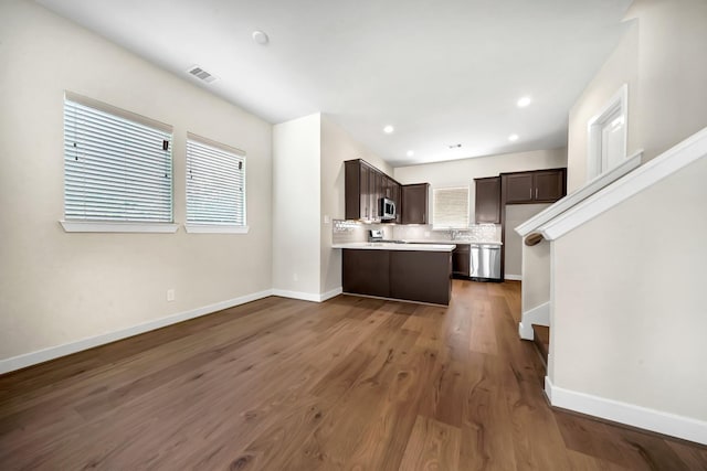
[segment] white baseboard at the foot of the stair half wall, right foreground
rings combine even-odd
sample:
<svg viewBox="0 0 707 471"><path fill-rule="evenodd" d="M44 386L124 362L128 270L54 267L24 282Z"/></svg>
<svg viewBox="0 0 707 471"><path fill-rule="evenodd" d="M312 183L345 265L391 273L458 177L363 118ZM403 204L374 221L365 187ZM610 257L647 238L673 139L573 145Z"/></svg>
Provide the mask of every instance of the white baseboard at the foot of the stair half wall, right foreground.
<svg viewBox="0 0 707 471"><path fill-rule="evenodd" d="M568 410L707 445L707 421L564 389L545 377L550 404Z"/></svg>

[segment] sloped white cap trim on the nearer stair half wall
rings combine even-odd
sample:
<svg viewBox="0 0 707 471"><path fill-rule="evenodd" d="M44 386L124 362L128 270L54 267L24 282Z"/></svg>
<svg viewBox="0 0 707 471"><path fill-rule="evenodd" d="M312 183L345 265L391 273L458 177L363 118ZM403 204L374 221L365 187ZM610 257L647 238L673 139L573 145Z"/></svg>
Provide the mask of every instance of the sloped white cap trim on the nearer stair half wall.
<svg viewBox="0 0 707 471"><path fill-rule="evenodd" d="M703 128L677 146L603 188L572 208L538 227L537 231L548 240L562 237L570 231L705 156L707 156L707 128Z"/></svg>

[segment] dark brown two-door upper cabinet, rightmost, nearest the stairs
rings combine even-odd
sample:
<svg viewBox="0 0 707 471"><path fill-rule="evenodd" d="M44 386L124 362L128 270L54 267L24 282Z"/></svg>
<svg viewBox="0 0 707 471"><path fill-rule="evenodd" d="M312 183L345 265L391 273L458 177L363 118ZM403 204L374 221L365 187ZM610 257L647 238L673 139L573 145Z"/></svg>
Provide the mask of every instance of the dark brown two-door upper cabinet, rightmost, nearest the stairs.
<svg viewBox="0 0 707 471"><path fill-rule="evenodd" d="M553 203L567 194L567 169L502 173L505 204Z"/></svg>

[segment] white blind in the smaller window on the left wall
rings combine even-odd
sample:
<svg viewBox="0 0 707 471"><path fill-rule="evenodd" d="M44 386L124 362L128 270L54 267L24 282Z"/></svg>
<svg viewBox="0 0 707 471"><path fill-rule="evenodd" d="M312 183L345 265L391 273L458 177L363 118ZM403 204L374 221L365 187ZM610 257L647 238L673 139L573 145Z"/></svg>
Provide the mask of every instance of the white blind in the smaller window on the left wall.
<svg viewBox="0 0 707 471"><path fill-rule="evenodd" d="M187 136L187 224L245 226L245 152Z"/></svg>

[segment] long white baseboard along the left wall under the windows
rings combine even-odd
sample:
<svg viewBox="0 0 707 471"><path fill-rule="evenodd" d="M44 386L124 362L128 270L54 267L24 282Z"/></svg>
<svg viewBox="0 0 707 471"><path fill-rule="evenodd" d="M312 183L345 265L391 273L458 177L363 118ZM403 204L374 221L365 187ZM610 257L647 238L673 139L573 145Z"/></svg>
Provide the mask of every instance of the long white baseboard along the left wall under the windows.
<svg viewBox="0 0 707 471"><path fill-rule="evenodd" d="M154 321L133 325L126 329L107 332L101 335L89 336L86 339L78 340L76 342L65 343L63 345L57 345L57 346L51 346L49 349L43 349L36 352L24 353L22 355L12 356L6 360L0 360L0 374L25 368L28 366L36 365L39 363L44 363L50 360L59 358L60 356L71 355L72 353L93 349L94 346L105 345L106 343L115 342L122 339L127 339L129 336L149 332L155 329L161 329L163 327L176 324L178 322L183 322L189 319L199 318L201 315L221 311L222 309L233 308L234 306L239 306L239 304L245 304L246 302L267 298L268 296L272 296L272 295L273 295L273 290L270 290L270 289L265 291L254 292L252 295L241 296L239 298L229 299L225 301L217 302L214 304L209 304L201 308L192 309L190 311L167 315L166 318L156 319Z"/></svg>

